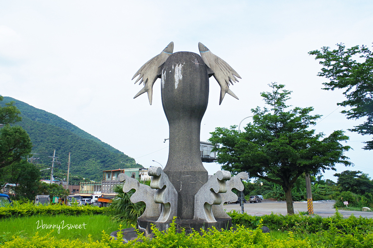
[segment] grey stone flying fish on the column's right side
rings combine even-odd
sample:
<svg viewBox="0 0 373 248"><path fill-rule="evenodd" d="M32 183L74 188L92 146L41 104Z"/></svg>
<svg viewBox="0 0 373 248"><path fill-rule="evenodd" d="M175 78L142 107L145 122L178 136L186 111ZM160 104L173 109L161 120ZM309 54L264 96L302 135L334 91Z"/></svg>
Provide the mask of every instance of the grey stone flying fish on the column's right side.
<svg viewBox="0 0 373 248"><path fill-rule="evenodd" d="M240 75L238 75L238 73L228 65L227 62L213 54L201 42L198 43L198 49L200 50L203 62L205 62L207 67L213 70L213 76L220 85L219 105L222 103L225 93L238 99L238 97L229 89L229 85L233 85L233 82L238 82L236 77L241 78Z"/></svg>

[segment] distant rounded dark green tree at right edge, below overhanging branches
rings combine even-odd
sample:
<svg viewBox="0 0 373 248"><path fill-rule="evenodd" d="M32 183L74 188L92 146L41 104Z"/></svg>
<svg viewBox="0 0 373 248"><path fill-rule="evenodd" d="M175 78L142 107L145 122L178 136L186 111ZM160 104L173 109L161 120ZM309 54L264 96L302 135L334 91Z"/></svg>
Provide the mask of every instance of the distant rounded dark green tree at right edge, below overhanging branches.
<svg viewBox="0 0 373 248"><path fill-rule="evenodd" d="M334 176L338 177L337 186L341 191L351 191L360 195L373 193L373 182L367 174L361 171L346 170L336 173Z"/></svg>

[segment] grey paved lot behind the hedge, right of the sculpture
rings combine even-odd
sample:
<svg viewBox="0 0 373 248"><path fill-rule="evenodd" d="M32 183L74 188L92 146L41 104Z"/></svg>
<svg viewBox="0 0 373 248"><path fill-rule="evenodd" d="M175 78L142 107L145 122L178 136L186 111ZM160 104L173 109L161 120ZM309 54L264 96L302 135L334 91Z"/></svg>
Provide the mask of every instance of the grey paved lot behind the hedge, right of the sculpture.
<svg viewBox="0 0 373 248"><path fill-rule="evenodd" d="M335 214L335 208L333 208L334 202L331 201L321 201L313 202L313 212L316 215L322 217L328 217ZM224 205L226 212L231 210L237 210L241 212L241 206L239 204L226 204ZM307 212L307 202L294 202L294 212ZM244 203L244 212L248 215L270 215L273 213L279 213L282 215L287 214L286 202L285 201L271 201L263 200L260 203ZM338 210L345 218L355 215L356 217L362 216L367 218L373 218L373 212L361 212L361 211L348 211L348 210Z"/></svg>

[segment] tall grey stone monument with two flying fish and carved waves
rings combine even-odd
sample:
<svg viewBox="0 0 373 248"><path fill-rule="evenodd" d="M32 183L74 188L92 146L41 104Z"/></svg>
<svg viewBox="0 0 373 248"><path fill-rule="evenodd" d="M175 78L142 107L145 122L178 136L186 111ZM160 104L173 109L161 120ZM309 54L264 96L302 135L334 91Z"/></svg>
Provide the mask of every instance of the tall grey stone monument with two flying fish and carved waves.
<svg viewBox="0 0 373 248"><path fill-rule="evenodd" d="M135 97L147 92L152 103L153 85L161 78L163 110L169 123L169 156L164 170L151 167L151 187L156 189L154 200L162 204L159 218L138 218L138 227L149 234L150 225L166 229L173 216L176 223L186 229L216 226L226 228L231 218L217 213L212 206L222 204L222 195L227 192L228 171L219 171L207 181L200 154L201 120L209 98L209 77L219 83L220 100L226 93L238 99L229 85L241 78L225 61L217 57L202 43L198 44L200 55L193 52L173 52L173 42L157 56L146 62L134 75L136 82L144 87ZM134 97L134 98L135 98ZM244 178L244 176L240 176ZM233 180L232 188L241 188L241 181ZM228 192L229 193L229 192ZM232 192L231 192L232 193ZM148 207L148 206L147 206Z"/></svg>

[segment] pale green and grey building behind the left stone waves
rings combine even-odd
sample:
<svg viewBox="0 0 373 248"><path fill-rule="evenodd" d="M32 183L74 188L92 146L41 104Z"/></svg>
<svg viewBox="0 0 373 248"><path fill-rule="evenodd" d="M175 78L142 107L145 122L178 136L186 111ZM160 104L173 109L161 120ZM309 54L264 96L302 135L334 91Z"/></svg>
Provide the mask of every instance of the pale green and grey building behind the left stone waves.
<svg viewBox="0 0 373 248"><path fill-rule="evenodd" d="M103 171L103 179L101 183L102 194L114 193L113 187L117 184L122 184L118 181L118 175L120 173L124 173L129 177L139 180L146 180L147 178L150 178L148 176L148 169L143 167Z"/></svg>

